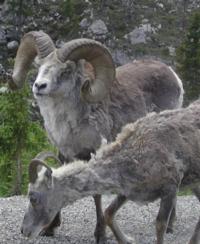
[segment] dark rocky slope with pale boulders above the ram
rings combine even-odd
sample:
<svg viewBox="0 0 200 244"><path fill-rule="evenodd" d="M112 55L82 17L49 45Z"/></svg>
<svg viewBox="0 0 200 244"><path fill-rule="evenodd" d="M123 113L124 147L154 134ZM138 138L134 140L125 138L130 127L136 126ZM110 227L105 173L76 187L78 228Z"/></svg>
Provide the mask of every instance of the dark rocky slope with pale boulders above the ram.
<svg viewBox="0 0 200 244"><path fill-rule="evenodd" d="M188 16L200 0L1 0L0 63L14 57L21 36L44 30L56 42L94 38L117 65L151 56L173 62Z"/></svg>

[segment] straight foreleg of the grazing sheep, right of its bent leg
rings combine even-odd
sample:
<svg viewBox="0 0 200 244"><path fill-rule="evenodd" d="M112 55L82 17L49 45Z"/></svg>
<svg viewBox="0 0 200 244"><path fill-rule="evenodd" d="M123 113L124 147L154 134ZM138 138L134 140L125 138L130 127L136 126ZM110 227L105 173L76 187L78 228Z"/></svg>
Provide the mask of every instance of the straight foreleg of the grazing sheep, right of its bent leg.
<svg viewBox="0 0 200 244"><path fill-rule="evenodd" d="M176 204L176 186L168 187L161 197L160 209L156 219L157 244L164 243L164 234L170 220L170 215Z"/></svg>

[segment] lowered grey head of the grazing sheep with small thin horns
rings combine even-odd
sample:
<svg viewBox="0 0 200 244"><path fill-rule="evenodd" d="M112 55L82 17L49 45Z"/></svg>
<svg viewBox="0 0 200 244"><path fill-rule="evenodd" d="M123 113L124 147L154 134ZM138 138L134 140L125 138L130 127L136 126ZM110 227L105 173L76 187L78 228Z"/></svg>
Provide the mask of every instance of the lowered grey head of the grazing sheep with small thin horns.
<svg viewBox="0 0 200 244"><path fill-rule="evenodd" d="M61 209L57 189L54 188L52 169L41 158L54 157L40 154L29 165L29 205L25 213L21 232L27 237L36 237L46 230ZM56 158L57 159L57 158ZM38 172L40 168L40 171Z"/></svg>

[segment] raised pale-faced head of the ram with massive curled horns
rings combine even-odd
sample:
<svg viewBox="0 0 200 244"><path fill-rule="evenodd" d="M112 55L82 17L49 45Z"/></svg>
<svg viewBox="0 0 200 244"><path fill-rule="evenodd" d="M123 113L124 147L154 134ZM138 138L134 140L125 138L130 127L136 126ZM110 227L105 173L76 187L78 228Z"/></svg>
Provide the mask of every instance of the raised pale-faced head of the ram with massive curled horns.
<svg viewBox="0 0 200 244"><path fill-rule="evenodd" d="M90 39L76 39L56 49L51 38L42 31L32 31L22 38L14 71L12 89L23 86L28 69L37 57L39 72L33 85L36 96L69 93L75 85L80 60L89 62L94 69L94 79L82 82L81 94L87 102L98 102L109 92L115 78L115 67L108 49ZM82 74L84 77L85 74Z"/></svg>

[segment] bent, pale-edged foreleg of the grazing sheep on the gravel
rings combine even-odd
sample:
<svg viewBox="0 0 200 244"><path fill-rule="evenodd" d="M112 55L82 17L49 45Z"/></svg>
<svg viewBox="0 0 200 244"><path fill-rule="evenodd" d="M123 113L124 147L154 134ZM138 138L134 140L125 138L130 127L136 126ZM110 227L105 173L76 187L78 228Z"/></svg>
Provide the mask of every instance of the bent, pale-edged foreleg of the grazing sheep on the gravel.
<svg viewBox="0 0 200 244"><path fill-rule="evenodd" d="M105 210L104 216L106 224L110 227L113 234L115 235L118 243L120 244L133 244L133 240L126 237L125 234L120 230L114 217L120 207L126 202L126 197L119 195L113 200L109 207Z"/></svg>

